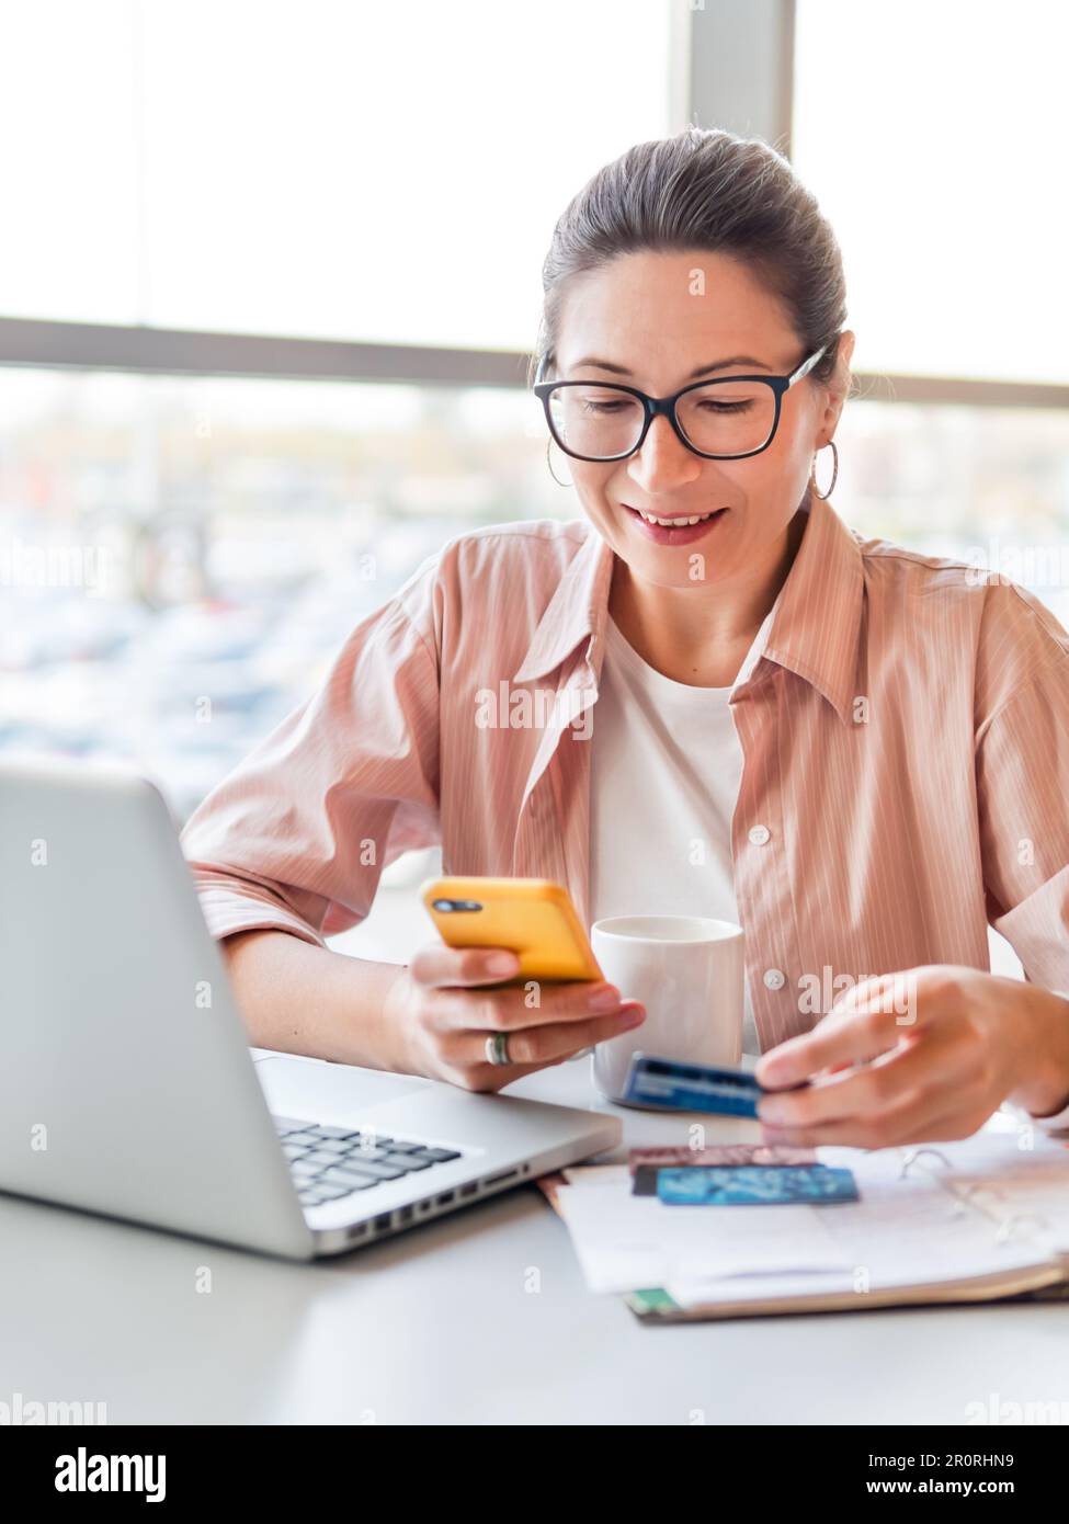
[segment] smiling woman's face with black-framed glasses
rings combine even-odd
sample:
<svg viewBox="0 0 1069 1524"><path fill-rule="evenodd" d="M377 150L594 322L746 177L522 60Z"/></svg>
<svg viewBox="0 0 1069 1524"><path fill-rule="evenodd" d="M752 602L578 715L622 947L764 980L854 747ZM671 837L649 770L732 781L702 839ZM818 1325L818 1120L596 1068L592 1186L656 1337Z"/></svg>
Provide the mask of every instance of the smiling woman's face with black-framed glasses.
<svg viewBox="0 0 1069 1524"><path fill-rule="evenodd" d="M843 334L834 378L842 376L842 393L810 376L796 383L761 454L706 460L677 439L666 418L656 418L642 450L625 460L564 457L587 517L633 573L662 587L694 587L753 573L778 553L805 495L813 453L834 433L852 346L854 335ZM618 381L668 396L705 379L705 370L708 379L790 375L807 358L778 300L735 259L644 251L572 280L561 305L555 378ZM711 369L724 360L735 363ZM659 544L636 512L692 517L721 507L726 512L679 544Z"/></svg>

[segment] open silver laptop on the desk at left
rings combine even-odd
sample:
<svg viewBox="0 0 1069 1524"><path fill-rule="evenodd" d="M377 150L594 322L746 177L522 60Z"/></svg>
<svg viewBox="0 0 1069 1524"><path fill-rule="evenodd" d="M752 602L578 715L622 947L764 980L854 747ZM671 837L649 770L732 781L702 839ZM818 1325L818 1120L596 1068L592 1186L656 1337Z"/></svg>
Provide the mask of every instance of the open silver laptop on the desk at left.
<svg viewBox="0 0 1069 1524"><path fill-rule="evenodd" d="M619 1143L602 1113L250 1050L127 768L0 759L0 1190L23 1196L313 1259Z"/></svg>

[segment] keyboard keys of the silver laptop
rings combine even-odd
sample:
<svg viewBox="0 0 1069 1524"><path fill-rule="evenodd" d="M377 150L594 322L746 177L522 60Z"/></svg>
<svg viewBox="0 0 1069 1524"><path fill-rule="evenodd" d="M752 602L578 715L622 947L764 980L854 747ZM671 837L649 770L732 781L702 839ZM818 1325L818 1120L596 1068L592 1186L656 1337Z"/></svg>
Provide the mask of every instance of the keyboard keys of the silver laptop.
<svg viewBox="0 0 1069 1524"><path fill-rule="evenodd" d="M456 1149L430 1148L413 1138L392 1138L381 1132L357 1132L320 1122L273 1117L290 1161L290 1173L300 1204L317 1207L340 1201L357 1190L371 1190L386 1180L425 1173L435 1164L461 1158Z"/></svg>

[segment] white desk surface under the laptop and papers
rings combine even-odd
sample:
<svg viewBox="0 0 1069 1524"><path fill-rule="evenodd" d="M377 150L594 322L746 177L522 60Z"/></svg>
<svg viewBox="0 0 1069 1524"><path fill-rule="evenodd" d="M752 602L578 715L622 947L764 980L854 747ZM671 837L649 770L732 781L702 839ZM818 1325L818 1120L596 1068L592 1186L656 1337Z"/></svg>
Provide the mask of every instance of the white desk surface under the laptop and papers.
<svg viewBox="0 0 1069 1524"><path fill-rule="evenodd" d="M599 1102L587 1062L514 1091ZM631 1143L683 1140L619 1114ZM535 1186L317 1265L14 1196L0 1245L0 1398L110 1423L962 1423L993 1393L1069 1398L1069 1305L647 1327L587 1292Z"/></svg>

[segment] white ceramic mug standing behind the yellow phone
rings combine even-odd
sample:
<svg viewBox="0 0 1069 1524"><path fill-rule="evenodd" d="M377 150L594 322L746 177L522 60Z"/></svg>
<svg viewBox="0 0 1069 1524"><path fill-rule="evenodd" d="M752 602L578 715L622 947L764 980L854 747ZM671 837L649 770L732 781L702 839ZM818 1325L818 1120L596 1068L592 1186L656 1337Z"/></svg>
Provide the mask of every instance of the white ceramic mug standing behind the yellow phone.
<svg viewBox="0 0 1069 1524"><path fill-rule="evenodd" d="M708 916L610 916L590 945L624 1000L640 1000L640 1027L599 1042L593 1082L621 1100L631 1055L738 1067L743 1056L746 966L743 928Z"/></svg>

